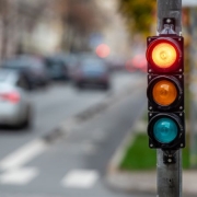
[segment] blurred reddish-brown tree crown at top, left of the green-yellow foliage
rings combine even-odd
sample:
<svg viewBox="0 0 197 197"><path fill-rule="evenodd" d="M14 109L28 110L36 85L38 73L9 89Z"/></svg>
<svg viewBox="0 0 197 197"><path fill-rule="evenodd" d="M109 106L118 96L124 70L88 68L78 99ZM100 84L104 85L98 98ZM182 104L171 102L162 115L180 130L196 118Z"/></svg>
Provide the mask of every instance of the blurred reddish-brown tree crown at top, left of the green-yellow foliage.
<svg viewBox="0 0 197 197"><path fill-rule="evenodd" d="M105 14L90 0L56 0L55 8L60 13L65 35L62 47L67 50L88 49L88 38L91 32L101 28Z"/></svg>

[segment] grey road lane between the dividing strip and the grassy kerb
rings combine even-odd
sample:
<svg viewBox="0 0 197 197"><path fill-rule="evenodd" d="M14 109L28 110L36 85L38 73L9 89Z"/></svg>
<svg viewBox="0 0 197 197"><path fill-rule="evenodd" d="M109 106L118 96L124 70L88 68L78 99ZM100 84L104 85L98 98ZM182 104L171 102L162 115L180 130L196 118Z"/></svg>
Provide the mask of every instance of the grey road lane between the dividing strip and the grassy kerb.
<svg viewBox="0 0 197 197"><path fill-rule="evenodd" d="M84 94L89 94L89 92L84 92ZM16 169L15 172L1 173L1 178L7 179L9 175L14 177L19 173L28 175L32 173L31 170L36 173L30 182L26 175L25 187L2 184L1 192L9 194L11 190L11 193L19 195L25 194L26 197L30 194L38 194L38 196L57 194L73 197L79 195L85 197L92 195L118 196L105 187L103 175L115 148L131 127L138 113L140 113L140 108L143 107L143 94L144 86L137 86L131 95L112 103L112 106L107 107L106 111L88 121L80 123L58 143L48 144L49 149L42 155L34 158L28 163L23 163L23 166ZM86 185L91 185L88 190L73 189L68 186L68 183L80 185L76 179L79 176L85 176L85 174L89 176L85 181ZM137 196L135 195L135 197Z"/></svg>

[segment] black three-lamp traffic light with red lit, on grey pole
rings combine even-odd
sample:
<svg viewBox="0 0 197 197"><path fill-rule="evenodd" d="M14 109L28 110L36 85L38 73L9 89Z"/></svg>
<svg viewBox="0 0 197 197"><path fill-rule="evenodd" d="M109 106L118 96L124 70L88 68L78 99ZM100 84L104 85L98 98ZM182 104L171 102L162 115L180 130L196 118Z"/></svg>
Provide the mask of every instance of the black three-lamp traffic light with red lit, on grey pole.
<svg viewBox="0 0 197 197"><path fill-rule="evenodd" d="M184 38L164 34L147 38L149 147L185 147Z"/></svg>

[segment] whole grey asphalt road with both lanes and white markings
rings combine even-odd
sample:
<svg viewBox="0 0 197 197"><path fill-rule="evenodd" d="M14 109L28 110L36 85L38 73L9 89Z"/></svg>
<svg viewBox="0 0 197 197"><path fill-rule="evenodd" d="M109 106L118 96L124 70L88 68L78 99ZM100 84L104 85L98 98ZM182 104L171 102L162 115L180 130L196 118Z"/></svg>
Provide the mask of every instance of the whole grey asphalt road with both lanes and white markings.
<svg viewBox="0 0 197 197"><path fill-rule="evenodd" d="M108 92L56 84L31 93L34 127L0 132L0 196L131 196L111 190L105 171L143 112L144 92L144 76L118 73Z"/></svg>

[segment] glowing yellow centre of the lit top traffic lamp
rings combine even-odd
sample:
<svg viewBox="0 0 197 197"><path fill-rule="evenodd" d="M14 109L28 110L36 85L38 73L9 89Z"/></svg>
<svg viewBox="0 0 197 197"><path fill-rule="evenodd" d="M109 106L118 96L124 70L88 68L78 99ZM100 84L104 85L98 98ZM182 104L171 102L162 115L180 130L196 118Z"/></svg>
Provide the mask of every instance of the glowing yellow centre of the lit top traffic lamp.
<svg viewBox="0 0 197 197"><path fill-rule="evenodd" d="M169 43L161 43L152 50L152 60L160 68L171 67L177 59L175 48Z"/></svg>

